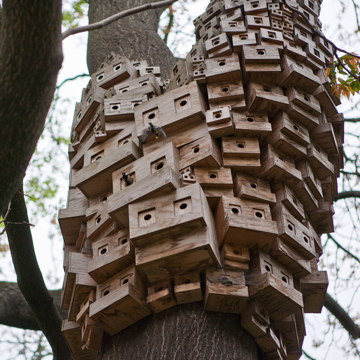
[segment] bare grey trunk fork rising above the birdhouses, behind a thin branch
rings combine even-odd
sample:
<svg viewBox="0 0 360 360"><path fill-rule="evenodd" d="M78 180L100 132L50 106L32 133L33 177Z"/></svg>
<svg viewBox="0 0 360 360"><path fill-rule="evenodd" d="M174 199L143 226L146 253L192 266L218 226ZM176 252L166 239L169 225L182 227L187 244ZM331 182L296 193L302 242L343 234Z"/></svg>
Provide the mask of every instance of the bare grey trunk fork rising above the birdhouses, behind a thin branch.
<svg viewBox="0 0 360 360"><path fill-rule="evenodd" d="M89 0L89 23L135 6L150 3L148 0ZM87 42L87 67L95 72L105 57L114 51L131 60L147 60L149 65L160 66L167 77L175 64L175 58L157 33L163 8L131 15L99 30L89 32Z"/></svg>

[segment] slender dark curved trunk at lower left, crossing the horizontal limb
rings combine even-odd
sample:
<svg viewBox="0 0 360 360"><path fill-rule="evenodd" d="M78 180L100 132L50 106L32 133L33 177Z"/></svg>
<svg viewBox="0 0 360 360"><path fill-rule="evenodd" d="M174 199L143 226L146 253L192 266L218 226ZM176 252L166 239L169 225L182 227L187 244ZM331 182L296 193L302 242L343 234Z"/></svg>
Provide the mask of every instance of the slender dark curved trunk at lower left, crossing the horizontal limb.
<svg viewBox="0 0 360 360"><path fill-rule="evenodd" d="M11 201L11 210L5 221L29 222L22 185ZM46 289L37 264L30 226L11 225L6 230L18 286L31 307L40 329L53 349L54 359L72 359L71 351L61 333L63 319L56 309L53 297Z"/></svg>

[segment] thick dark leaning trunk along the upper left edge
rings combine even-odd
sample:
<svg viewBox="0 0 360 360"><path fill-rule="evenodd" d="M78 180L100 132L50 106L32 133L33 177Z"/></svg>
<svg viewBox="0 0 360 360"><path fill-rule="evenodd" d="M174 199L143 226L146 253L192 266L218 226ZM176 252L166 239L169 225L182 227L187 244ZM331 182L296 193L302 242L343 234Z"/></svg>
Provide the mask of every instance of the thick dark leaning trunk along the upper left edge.
<svg viewBox="0 0 360 360"><path fill-rule="evenodd" d="M0 28L0 213L22 182L62 63L61 0L4 0Z"/></svg>

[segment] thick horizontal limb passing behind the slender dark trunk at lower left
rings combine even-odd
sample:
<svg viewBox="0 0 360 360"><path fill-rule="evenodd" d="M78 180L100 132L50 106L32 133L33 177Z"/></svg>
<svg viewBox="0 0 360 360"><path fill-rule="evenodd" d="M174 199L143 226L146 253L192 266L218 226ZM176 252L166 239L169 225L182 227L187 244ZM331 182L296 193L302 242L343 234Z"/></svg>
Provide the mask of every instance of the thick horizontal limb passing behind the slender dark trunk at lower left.
<svg viewBox="0 0 360 360"><path fill-rule="evenodd" d="M67 319L67 310L60 309L61 289L49 290L54 305L63 319ZM26 302L17 283L0 281L0 324L20 329L40 330L35 316Z"/></svg>

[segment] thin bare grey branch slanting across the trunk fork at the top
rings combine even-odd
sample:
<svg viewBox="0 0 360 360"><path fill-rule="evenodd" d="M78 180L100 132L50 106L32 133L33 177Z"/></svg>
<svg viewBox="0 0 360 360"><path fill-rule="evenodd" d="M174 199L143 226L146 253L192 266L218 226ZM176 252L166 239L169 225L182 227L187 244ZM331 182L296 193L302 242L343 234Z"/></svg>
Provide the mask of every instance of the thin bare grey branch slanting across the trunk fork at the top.
<svg viewBox="0 0 360 360"><path fill-rule="evenodd" d="M149 10L149 9L158 9L158 8L162 8L164 6L170 6L170 5L174 4L176 1L177 0L163 0L163 1L159 1L158 3L150 3L150 4L137 6L136 8L122 11L120 13L112 15L102 21L99 21L99 22L96 22L93 24L70 28L62 33L63 40L66 39L68 36L77 34L79 32L101 29L102 27L108 26L111 23L113 23L114 21L125 18L129 15L141 13L141 12Z"/></svg>

